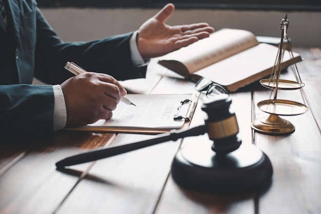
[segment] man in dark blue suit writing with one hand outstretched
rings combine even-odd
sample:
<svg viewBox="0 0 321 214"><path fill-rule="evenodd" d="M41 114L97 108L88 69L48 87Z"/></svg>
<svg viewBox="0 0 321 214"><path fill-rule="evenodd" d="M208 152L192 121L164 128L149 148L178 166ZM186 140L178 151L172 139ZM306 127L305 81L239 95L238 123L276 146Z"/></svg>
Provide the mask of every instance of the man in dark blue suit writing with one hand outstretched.
<svg viewBox="0 0 321 214"><path fill-rule="evenodd" d="M148 60L214 31L198 23L168 26L166 5L135 32L88 42L64 42L35 0L0 0L0 133L53 133L65 126L110 119L126 90L116 80L145 77ZM73 76L73 61L88 71ZM90 69L90 70L89 70ZM33 77L48 85L32 85Z"/></svg>

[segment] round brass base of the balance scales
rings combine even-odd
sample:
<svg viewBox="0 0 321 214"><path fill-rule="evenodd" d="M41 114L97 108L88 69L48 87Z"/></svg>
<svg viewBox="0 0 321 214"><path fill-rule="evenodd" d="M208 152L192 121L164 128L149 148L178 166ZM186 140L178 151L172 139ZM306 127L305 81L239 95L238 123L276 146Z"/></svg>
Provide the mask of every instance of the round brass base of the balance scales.
<svg viewBox="0 0 321 214"><path fill-rule="evenodd" d="M290 121L275 114L255 120L251 127L253 130L267 135L286 135L295 131L295 126Z"/></svg>

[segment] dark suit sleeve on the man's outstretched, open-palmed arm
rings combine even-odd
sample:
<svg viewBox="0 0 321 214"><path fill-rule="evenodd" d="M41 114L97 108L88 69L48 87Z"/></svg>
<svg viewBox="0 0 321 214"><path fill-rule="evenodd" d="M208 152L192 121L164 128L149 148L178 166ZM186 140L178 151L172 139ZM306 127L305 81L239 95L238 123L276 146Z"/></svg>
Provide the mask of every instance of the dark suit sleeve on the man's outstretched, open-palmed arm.
<svg viewBox="0 0 321 214"><path fill-rule="evenodd" d="M72 75L64 69L73 61L87 71L106 73L117 80L144 78L146 67L131 60L132 33L88 42L63 42L37 11L35 76L50 84L60 84ZM49 65L49 66L48 66Z"/></svg>

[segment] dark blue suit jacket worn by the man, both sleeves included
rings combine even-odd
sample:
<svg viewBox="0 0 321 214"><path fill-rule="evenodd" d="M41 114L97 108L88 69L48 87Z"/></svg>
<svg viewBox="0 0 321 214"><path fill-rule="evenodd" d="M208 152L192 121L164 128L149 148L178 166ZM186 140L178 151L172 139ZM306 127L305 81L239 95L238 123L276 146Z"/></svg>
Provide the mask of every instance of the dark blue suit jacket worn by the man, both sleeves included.
<svg viewBox="0 0 321 214"><path fill-rule="evenodd" d="M132 65L132 33L89 42L63 42L35 0L4 2L8 26L0 17L0 135L52 133L52 87L31 82L36 77L48 84L62 83L72 76L64 69L67 61L118 80L145 77L146 67Z"/></svg>

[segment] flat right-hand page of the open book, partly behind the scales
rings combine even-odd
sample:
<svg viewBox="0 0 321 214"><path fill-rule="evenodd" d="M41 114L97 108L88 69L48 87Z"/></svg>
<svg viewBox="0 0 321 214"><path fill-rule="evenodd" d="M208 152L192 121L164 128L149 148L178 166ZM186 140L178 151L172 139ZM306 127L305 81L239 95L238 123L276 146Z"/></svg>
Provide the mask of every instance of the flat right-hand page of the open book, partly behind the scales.
<svg viewBox="0 0 321 214"><path fill-rule="evenodd" d="M194 74L206 77L223 85L228 91L236 91L254 81L271 74L278 48L269 44L259 44L246 51L216 62ZM299 57L293 53L294 57ZM300 60L297 58L297 61ZM292 62L289 52L284 54L284 66Z"/></svg>

